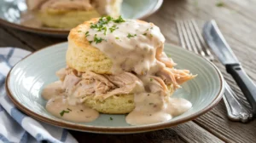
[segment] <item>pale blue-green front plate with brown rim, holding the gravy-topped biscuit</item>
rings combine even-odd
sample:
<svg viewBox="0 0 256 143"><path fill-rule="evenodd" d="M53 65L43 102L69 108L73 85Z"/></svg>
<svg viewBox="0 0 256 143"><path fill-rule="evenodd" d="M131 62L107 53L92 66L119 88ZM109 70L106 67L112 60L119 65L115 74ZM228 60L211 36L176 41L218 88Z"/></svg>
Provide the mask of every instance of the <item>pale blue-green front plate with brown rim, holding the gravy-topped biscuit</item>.
<svg viewBox="0 0 256 143"><path fill-rule="evenodd" d="M131 126L125 123L125 115L101 114L91 123L73 123L54 117L44 108L46 100L41 98L43 87L58 78L55 72L66 66L67 43L59 43L41 49L21 60L9 72L6 89L9 97L21 111L45 123L67 129L105 134L139 133L165 129L199 117L218 104L224 91L223 77L210 61L185 49L165 45L166 54L171 55L177 68L189 69L197 77L177 89L174 97L182 97L192 103L192 108L180 116L164 123ZM113 120L110 120L110 117Z"/></svg>

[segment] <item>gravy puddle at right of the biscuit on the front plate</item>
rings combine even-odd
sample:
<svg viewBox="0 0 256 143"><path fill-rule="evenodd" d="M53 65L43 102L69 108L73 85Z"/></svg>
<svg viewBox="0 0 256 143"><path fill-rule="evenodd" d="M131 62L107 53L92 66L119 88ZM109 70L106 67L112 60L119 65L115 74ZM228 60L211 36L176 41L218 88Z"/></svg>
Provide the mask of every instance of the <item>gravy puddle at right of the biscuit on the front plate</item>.
<svg viewBox="0 0 256 143"><path fill-rule="evenodd" d="M192 104L181 98L163 97L160 94L136 94L135 109L126 117L126 123L142 125L161 123L187 112Z"/></svg>

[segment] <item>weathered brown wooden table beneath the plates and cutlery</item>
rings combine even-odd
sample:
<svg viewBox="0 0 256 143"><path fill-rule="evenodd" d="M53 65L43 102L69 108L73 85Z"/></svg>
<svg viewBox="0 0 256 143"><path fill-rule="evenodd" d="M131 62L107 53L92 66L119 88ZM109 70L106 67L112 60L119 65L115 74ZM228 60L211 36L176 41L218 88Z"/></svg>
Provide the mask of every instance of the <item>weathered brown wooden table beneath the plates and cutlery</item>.
<svg viewBox="0 0 256 143"><path fill-rule="evenodd" d="M165 0L160 10L148 17L159 26L167 43L178 43L175 20L195 19L200 26L215 19L249 77L256 81L256 2L252 0ZM12 46L35 51L67 38L40 36L0 26L0 47ZM224 66L214 61L236 94L244 99ZM250 123L231 122L224 101L194 121L176 127L143 134L90 134L70 131L79 142L256 142L256 120Z"/></svg>

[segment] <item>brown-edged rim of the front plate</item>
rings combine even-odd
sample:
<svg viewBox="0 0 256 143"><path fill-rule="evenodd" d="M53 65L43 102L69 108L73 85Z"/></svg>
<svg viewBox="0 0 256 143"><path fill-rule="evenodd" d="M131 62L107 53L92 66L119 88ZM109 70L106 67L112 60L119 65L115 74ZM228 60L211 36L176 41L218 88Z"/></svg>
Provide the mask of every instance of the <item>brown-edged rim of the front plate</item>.
<svg viewBox="0 0 256 143"><path fill-rule="evenodd" d="M42 49L38 49L35 52L32 52L32 54L38 53L43 49L51 49L52 46L55 46L58 44L64 44L64 43L67 43L67 42L51 44ZM172 43L165 43L165 44L172 46L172 47L182 49L181 47L174 45ZM183 49L183 50L185 50L185 49ZM182 119L174 121L172 123L168 123L168 122L157 123L157 124L143 125L143 126L139 126L139 127L137 127L137 126L133 126L133 127L132 126L129 126L129 127L96 127L96 126L91 126L91 125L84 126L84 125L74 124L74 123L64 123L61 121L56 121L49 117L44 117L36 112L33 112L32 110L28 109L26 106L23 106L18 100L16 100L15 96L13 94L11 94L11 91L9 89L10 73L13 71L15 66L17 66L22 60L25 60L27 57L31 56L32 54L28 54L25 58L23 58L22 60L17 62L15 64L15 66L12 67L12 69L9 71L9 73L6 77L6 80L5 80L5 89L6 89L7 94L9 95L9 98L13 101L15 106L17 106L20 109L20 111L25 112L27 115L33 117L34 119L37 119L44 123L49 123L51 125L55 125L55 126L58 126L61 128L65 128L65 129L73 129L73 130L78 130L78 131L83 131L83 132L102 133L102 134L133 134L133 133L142 133L142 132L148 132L148 131L159 130L159 129L166 129L166 128L170 128L170 127L176 126L181 123L189 122L190 120L194 120L196 117L200 117L201 115L205 114L206 112L209 112L214 106L216 106L218 104L218 102L222 99L223 94L224 94L224 77L221 74L221 72L218 70L218 67L215 66L211 61L206 60L205 58L203 58L193 52L190 52L190 51L188 51L188 52L190 54L194 54L197 57L200 57L201 60L207 61L207 63L210 64L215 69L215 71L218 74L218 79L220 81L220 89L218 90L218 94L216 95L216 97L204 109L202 109L199 112L196 112L195 114L189 115L188 117L184 117Z"/></svg>

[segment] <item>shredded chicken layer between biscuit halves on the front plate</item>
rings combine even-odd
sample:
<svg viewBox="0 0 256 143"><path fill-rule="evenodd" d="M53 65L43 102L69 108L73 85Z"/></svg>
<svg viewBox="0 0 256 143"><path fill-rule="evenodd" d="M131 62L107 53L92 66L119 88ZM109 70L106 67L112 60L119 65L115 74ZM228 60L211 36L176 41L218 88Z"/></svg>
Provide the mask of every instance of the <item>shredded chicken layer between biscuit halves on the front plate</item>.
<svg viewBox="0 0 256 143"><path fill-rule="evenodd" d="M77 72L70 67L61 69L56 72L56 75L63 82L62 88L66 89L67 95L80 101L91 96L104 100L116 94L132 94L145 92L145 90L150 93L167 95L170 93L167 86L178 89L180 84L195 77L188 70L175 69L173 66L176 64L162 52L162 48L157 50L156 59L163 63L164 67L155 75L148 75L143 78L131 72L108 75L89 71ZM145 83L145 81L148 82Z"/></svg>

